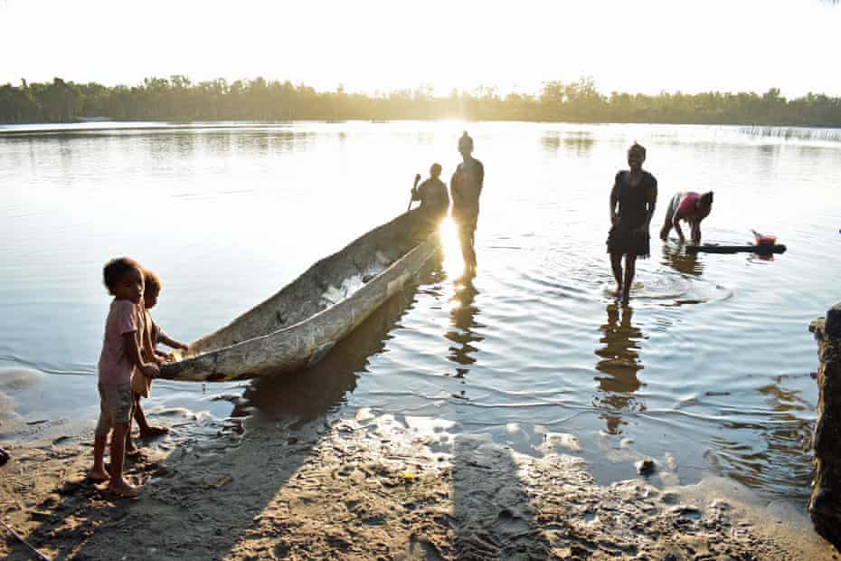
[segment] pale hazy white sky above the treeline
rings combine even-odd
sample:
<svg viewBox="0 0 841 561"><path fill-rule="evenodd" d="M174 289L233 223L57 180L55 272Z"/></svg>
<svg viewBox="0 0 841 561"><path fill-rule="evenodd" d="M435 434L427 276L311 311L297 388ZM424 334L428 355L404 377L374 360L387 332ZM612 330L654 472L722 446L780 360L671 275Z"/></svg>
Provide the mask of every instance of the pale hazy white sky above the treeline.
<svg viewBox="0 0 841 561"><path fill-rule="evenodd" d="M0 83L178 73L449 93L591 75L604 93L841 95L839 29L826 0L0 0Z"/></svg>

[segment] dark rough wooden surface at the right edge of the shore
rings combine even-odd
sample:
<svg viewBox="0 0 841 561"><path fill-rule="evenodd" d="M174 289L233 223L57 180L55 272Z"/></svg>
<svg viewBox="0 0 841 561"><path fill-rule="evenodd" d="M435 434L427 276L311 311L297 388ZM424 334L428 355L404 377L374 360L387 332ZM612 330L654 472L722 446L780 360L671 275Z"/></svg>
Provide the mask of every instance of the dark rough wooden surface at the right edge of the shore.
<svg viewBox="0 0 841 561"><path fill-rule="evenodd" d="M841 302L816 319L817 420L812 436L815 476L808 512L817 533L841 550Z"/></svg>

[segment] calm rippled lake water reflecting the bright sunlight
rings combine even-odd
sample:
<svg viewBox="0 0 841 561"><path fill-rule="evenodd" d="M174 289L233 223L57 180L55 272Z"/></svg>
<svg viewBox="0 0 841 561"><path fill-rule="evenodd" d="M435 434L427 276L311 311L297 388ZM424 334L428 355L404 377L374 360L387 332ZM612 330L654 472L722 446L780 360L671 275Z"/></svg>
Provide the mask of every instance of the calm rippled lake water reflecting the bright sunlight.
<svg viewBox="0 0 841 561"><path fill-rule="evenodd" d="M405 210L412 177L433 161L449 177L464 127L0 134L0 437L26 421L93 423L109 257L156 271L156 319L175 338L199 337ZM446 419L521 452L578 454L600 481L631 477L648 455L669 467L665 482L713 473L802 501L817 402L808 321L841 296L839 131L468 128L487 172L474 281L457 279L445 241L420 284L317 370L259 385L159 382L149 409L225 417L251 406L275 420L368 407ZM637 298L618 308L608 195L634 139L659 182L654 230L677 190L713 189L704 241L747 242L755 228L789 252L690 257L656 240ZM243 394L236 408L214 400Z"/></svg>

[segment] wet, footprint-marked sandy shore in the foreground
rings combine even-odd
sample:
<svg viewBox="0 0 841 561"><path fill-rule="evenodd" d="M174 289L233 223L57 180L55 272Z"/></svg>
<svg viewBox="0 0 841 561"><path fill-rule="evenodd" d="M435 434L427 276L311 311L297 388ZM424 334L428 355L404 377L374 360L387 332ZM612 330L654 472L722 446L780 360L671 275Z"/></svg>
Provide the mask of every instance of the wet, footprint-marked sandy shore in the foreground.
<svg viewBox="0 0 841 561"><path fill-rule="evenodd" d="M578 458L524 456L429 419L163 420L174 433L128 463L136 500L86 480L90 427L33 429L0 469L3 518L57 559L839 558L732 483L600 486ZM0 531L0 557L30 558Z"/></svg>

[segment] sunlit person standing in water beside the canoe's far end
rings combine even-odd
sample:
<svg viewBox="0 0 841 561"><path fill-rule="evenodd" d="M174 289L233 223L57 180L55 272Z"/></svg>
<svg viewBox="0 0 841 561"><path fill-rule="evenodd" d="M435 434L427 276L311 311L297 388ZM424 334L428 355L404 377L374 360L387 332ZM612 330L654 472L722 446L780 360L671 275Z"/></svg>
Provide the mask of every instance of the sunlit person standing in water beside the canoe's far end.
<svg viewBox="0 0 841 561"><path fill-rule="evenodd" d="M479 195L485 183L485 166L473 157L473 138L469 137L467 130L458 138L458 152L461 153L462 162L450 179L449 192L465 271L472 274L476 272L477 265L473 243L479 220Z"/></svg>

